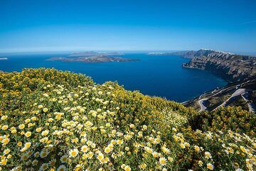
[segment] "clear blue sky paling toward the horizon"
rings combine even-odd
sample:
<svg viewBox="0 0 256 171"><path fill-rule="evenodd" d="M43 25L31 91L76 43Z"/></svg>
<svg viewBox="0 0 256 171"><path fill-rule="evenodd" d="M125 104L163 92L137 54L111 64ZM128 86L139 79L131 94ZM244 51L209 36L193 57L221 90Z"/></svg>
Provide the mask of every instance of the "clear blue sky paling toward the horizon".
<svg viewBox="0 0 256 171"><path fill-rule="evenodd" d="M0 1L0 53L199 48L256 52L256 1Z"/></svg>

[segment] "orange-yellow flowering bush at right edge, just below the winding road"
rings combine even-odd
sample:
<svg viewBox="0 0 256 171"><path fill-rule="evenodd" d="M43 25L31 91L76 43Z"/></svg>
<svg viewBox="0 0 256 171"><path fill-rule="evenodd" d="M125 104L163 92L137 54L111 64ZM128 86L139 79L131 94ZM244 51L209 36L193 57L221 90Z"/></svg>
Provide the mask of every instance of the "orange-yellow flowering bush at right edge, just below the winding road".
<svg viewBox="0 0 256 171"><path fill-rule="evenodd" d="M248 111L243 111L240 106L222 107L210 113L196 114L196 116L189 118L189 120L194 129L199 128L204 131L232 130L238 133L247 133L247 135L255 136L256 116Z"/></svg>

